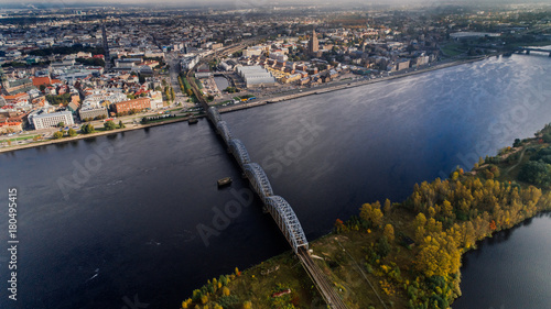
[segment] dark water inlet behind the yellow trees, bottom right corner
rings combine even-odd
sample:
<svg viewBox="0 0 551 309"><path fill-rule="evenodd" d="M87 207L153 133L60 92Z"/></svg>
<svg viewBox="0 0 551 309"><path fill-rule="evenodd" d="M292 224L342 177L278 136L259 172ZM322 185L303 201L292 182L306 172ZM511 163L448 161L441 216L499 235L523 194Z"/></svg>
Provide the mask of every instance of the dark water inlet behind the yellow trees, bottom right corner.
<svg viewBox="0 0 551 309"><path fill-rule="evenodd" d="M551 213L484 240L463 257L462 293L454 309L549 308Z"/></svg>

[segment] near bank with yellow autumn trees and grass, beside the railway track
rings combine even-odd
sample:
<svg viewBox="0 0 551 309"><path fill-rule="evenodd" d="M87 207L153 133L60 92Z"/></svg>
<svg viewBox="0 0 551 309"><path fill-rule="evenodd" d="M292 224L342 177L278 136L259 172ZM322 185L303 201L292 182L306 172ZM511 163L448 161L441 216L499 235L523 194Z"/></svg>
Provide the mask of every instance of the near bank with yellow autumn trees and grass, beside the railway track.
<svg viewBox="0 0 551 309"><path fill-rule="evenodd" d="M415 185L403 202L365 203L358 216L337 219L333 233L310 242L312 257L348 308L449 308L461 296L463 254L551 210L551 175L538 188L539 177L529 175L533 166L526 167L551 151L541 141L545 134L551 126L480 161L473 172ZM182 307L216 306L229 296L235 308L323 307L291 252L208 282Z"/></svg>

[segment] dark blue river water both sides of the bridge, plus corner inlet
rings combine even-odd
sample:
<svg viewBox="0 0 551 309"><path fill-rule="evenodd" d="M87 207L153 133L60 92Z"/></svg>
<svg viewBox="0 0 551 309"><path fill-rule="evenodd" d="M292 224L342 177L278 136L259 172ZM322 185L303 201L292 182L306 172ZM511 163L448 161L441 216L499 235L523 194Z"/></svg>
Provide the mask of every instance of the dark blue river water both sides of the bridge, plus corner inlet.
<svg viewBox="0 0 551 309"><path fill-rule="evenodd" d="M543 55L489 58L223 119L313 240L364 202L403 200L414 183L531 136L551 122L550 73ZM17 302L6 296L10 256L0 250L0 308L133 308L137 300L179 308L207 279L289 250L205 120L0 154L0 170L1 243L8 247L11 187L20 240ZM217 189L226 176L233 185ZM454 308L551 304L549 288L532 288L549 287L534 274L550 274L541 272L550 225L549 217L533 220L510 241L467 255ZM527 244L537 263L510 256ZM511 265L523 271L509 277ZM478 301L488 294L489 302ZM512 300L494 301L505 296Z"/></svg>

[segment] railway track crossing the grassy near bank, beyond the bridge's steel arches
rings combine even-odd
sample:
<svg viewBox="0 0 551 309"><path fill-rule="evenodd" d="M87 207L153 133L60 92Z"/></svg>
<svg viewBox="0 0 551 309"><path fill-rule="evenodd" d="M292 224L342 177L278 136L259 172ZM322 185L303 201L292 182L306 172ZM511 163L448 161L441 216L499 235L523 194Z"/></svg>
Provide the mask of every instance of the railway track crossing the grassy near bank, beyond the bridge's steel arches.
<svg viewBox="0 0 551 309"><path fill-rule="evenodd" d="M346 309L347 307L344 304L343 299L333 288L333 283L329 282L327 276L325 276L317 264L314 263L307 250L304 247L300 247L296 255L301 260L302 267L304 267L304 269L309 274L309 277L316 286L317 291L322 295L325 302L327 302L331 308Z"/></svg>

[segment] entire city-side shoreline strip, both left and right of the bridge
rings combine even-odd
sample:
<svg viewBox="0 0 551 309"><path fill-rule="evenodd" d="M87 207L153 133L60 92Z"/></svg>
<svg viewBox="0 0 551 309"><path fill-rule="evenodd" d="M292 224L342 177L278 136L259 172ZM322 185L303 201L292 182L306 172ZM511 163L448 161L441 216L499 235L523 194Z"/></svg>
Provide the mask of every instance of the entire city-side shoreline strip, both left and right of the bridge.
<svg viewBox="0 0 551 309"><path fill-rule="evenodd" d="M473 58L473 59L454 60L454 62L450 62L450 63L437 64L437 65L434 65L431 67L426 67L426 68L413 70L413 71L408 71L408 73L398 74L398 75L393 75L393 76L381 77L381 78L377 78L377 79L352 80L345 85L331 85L329 84L324 88L307 89L307 90L305 90L303 92L299 92L299 93L276 96L276 97L270 98L270 99L263 99L263 100L259 100L259 101L255 101L255 102L239 103L239 104L231 106L231 107L218 108L218 112L219 113L233 112L233 111L238 111L238 110L242 110L242 109L260 107L260 106L264 106L268 103L283 102L283 101L288 101L288 100L299 99L302 97L323 95L323 93L344 90L344 89L348 89L348 88L353 88L353 87L360 87L360 86L366 86L366 85L370 85L370 84L399 79L399 78L409 77L409 76L423 74L423 73L428 73L428 71L433 71L433 70L437 70L437 69L443 69L443 68L447 68L447 67L460 66L460 65L464 65L464 64L468 64L468 63L479 62L479 60L487 59L488 57L477 57L477 58ZM203 118L203 117L204 115L195 115L195 118ZM77 136L74 136L74 137L62 137L58 140L48 140L48 141L44 141L44 142L33 142L33 143L29 143L25 145L7 146L7 147L1 147L0 153L8 153L8 152L13 152L13 151L28 150L28 148L53 145L53 144L58 144L58 143L73 142L73 141L78 141L78 140L84 140L84 139L89 139L89 137L109 135L109 134L115 134L115 133L120 133L120 132L128 132L128 131L133 131L133 130L151 128L151 126L172 124L172 123L176 123L176 122L187 121L188 119L190 119L190 117L183 117L183 118L179 118L179 119L166 120L166 121L161 121L161 122L155 122L155 123L137 124L137 125L131 126L131 128L116 129L112 131L101 131L101 132L96 132L96 133L91 133L91 134L78 134Z"/></svg>

